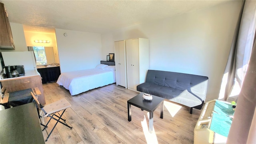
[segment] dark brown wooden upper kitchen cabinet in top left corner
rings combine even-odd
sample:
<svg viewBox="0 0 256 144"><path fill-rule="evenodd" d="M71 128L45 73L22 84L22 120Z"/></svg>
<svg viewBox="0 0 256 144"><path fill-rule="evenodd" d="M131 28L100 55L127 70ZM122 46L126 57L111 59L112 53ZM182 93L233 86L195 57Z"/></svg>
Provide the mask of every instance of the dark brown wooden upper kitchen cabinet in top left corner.
<svg viewBox="0 0 256 144"><path fill-rule="evenodd" d="M14 42L12 38L12 30L8 20L4 4L0 3L1 23L0 23L0 49L12 49L14 50Z"/></svg>

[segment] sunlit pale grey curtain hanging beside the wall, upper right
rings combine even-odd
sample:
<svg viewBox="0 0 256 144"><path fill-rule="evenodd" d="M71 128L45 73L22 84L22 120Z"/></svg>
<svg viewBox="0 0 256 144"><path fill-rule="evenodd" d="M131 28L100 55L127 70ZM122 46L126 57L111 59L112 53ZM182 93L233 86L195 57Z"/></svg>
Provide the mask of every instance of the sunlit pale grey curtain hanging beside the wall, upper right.
<svg viewBox="0 0 256 144"><path fill-rule="evenodd" d="M219 99L237 101L248 69L255 40L255 1L243 1L238 18L230 55L226 64Z"/></svg>

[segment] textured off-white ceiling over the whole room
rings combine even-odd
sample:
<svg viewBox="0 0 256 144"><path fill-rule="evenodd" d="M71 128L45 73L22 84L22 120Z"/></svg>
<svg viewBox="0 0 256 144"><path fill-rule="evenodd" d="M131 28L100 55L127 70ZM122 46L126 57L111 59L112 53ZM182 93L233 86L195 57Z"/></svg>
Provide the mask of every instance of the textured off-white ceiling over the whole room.
<svg viewBox="0 0 256 144"><path fill-rule="evenodd" d="M229 0L228 0L229 1ZM226 0L1 0L9 21L25 31L54 32L55 28L105 33L208 8Z"/></svg>

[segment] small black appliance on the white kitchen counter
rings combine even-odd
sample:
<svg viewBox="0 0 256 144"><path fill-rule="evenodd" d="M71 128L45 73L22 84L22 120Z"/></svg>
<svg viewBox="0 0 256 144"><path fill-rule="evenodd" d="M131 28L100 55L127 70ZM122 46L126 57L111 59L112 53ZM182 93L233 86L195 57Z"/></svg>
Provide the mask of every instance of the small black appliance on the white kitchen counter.
<svg viewBox="0 0 256 144"><path fill-rule="evenodd" d="M6 74L6 78L24 76L24 66L4 66L4 74Z"/></svg>

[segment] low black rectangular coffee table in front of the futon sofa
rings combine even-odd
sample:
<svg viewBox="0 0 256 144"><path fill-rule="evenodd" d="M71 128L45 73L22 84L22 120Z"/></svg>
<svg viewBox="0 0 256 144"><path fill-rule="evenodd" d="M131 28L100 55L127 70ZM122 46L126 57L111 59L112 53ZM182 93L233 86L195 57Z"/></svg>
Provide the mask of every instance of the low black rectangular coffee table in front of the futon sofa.
<svg viewBox="0 0 256 144"><path fill-rule="evenodd" d="M153 130L153 112L156 108L161 104L161 114L160 118L163 118L164 113L164 98L152 95L152 101L143 100L142 95L144 93L140 93L137 96L134 96L130 100L127 101L128 106L128 121L132 120L132 112L131 112L131 105L141 108L141 110L146 110L149 112L149 132L151 133Z"/></svg>

